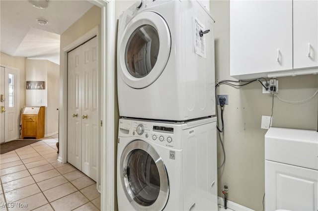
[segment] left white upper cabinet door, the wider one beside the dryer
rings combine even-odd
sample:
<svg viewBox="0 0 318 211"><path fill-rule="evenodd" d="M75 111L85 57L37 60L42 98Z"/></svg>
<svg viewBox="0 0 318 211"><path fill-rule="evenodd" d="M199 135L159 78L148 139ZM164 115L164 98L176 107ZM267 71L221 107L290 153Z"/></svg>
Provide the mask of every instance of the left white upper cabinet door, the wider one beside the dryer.
<svg viewBox="0 0 318 211"><path fill-rule="evenodd" d="M293 68L292 11L292 0L231 0L231 76Z"/></svg>

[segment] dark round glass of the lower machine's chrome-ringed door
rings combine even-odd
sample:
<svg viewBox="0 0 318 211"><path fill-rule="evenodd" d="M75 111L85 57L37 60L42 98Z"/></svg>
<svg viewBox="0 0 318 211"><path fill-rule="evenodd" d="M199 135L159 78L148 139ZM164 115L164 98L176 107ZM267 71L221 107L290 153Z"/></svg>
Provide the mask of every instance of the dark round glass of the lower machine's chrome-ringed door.
<svg viewBox="0 0 318 211"><path fill-rule="evenodd" d="M154 159L147 152L134 150L131 153L127 163L127 178L138 204L154 204L159 196L160 177Z"/></svg>

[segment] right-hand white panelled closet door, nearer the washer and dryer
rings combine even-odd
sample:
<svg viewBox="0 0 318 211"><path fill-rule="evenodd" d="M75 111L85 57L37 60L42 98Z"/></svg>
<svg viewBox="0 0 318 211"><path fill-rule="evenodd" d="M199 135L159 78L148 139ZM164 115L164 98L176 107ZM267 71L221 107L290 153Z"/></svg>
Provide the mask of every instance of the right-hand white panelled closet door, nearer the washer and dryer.
<svg viewBox="0 0 318 211"><path fill-rule="evenodd" d="M81 77L81 171L93 180L97 180L98 156L98 55L97 38L82 45Z"/></svg>

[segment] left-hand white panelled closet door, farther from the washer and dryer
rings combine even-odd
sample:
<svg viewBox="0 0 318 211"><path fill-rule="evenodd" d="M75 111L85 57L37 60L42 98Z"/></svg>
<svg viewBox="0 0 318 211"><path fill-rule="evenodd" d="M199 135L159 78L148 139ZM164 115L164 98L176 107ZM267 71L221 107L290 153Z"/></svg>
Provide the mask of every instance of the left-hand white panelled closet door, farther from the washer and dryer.
<svg viewBox="0 0 318 211"><path fill-rule="evenodd" d="M81 169L80 48L68 53L68 162Z"/></svg>

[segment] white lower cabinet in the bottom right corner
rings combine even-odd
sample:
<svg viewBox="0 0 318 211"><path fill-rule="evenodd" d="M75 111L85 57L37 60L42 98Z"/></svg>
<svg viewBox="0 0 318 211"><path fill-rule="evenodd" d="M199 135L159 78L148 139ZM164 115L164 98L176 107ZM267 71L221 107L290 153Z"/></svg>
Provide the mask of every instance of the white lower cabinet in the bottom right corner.
<svg viewBox="0 0 318 211"><path fill-rule="evenodd" d="M268 129L265 210L318 210L318 132Z"/></svg>

